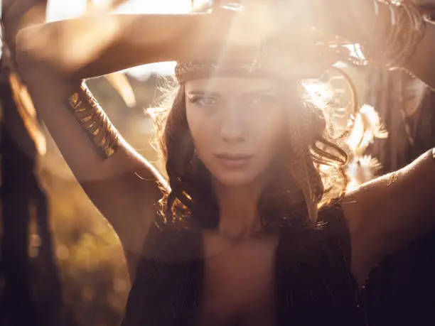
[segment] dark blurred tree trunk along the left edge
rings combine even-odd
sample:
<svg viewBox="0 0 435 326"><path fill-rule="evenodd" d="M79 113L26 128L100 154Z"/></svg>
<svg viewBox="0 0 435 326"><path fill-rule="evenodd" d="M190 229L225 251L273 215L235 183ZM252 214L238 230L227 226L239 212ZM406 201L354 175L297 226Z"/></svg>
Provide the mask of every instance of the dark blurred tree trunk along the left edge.
<svg viewBox="0 0 435 326"><path fill-rule="evenodd" d="M36 162L39 153L45 151L45 139L14 62L16 33L23 26L42 23L46 6L47 0L6 0L2 8L1 325L60 325L60 281L53 258L47 200L36 175ZM37 236L31 238L32 220Z"/></svg>

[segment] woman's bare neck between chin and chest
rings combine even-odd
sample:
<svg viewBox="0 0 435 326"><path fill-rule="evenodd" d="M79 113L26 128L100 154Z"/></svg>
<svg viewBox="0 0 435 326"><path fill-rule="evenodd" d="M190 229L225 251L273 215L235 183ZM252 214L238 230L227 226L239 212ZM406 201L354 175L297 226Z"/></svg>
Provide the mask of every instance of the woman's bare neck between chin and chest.
<svg viewBox="0 0 435 326"><path fill-rule="evenodd" d="M240 187L215 183L214 190L220 210L220 234L240 239L262 229L258 213L258 202L263 190L261 182Z"/></svg>

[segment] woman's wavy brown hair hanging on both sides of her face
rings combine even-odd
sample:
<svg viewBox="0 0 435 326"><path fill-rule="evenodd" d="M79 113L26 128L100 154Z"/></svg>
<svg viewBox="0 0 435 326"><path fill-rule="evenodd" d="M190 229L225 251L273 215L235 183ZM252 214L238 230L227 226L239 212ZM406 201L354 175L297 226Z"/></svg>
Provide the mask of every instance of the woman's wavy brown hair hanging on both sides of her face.
<svg viewBox="0 0 435 326"><path fill-rule="evenodd" d="M259 200L259 216L267 229L316 222L318 209L345 189L342 166L347 155L328 136L323 110L298 89L286 85L281 90L289 108L289 134L273 163L274 177ZM171 108L161 112L155 121L169 185L160 202L161 221L217 227L219 206L210 172L195 156L183 85L178 87Z"/></svg>

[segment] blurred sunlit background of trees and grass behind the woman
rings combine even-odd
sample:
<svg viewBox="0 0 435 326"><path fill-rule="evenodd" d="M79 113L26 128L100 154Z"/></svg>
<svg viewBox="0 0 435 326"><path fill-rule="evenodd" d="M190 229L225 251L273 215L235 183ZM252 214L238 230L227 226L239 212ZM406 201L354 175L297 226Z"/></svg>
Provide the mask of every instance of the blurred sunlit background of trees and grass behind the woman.
<svg viewBox="0 0 435 326"><path fill-rule="evenodd" d="M4 8L11 8L13 3L3 2L8 5ZM98 6L118 13L187 13L206 11L211 5L200 0L35 2L43 3L41 15L48 21L80 16ZM23 5L23 13L26 10ZM14 51L7 44L7 32L14 25L6 18L0 73L0 324L119 325L130 288L122 247L38 120L10 60ZM87 82L122 136L159 168L151 146L153 123L146 109L161 99L162 80L173 74L174 67L175 63L146 65ZM370 109L351 116L368 133L355 131L355 138L365 141L363 148L348 144L355 154L348 165L352 186L399 168L430 148L428 137L419 141L416 131L432 130L431 120L419 113L428 97L424 85L404 72L350 63L338 63L337 67L352 78L359 104L374 105L387 131L394 134L394 138L376 138L379 119ZM335 101L343 107L351 102L351 89L343 74L332 71L323 79L335 89ZM394 106L394 114L387 111ZM425 121L426 129L419 129L418 121Z"/></svg>

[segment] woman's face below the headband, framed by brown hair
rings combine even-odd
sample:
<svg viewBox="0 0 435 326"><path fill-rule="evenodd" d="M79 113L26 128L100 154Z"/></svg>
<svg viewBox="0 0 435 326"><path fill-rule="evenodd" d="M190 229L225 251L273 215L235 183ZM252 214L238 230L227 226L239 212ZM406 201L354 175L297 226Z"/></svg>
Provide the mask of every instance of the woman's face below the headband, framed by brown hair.
<svg viewBox="0 0 435 326"><path fill-rule="evenodd" d="M186 83L186 114L196 154L219 183L248 185L267 175L286 126L275 83L242 77Z"/></svg>

